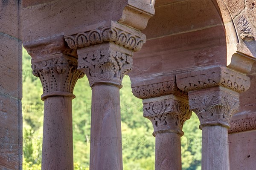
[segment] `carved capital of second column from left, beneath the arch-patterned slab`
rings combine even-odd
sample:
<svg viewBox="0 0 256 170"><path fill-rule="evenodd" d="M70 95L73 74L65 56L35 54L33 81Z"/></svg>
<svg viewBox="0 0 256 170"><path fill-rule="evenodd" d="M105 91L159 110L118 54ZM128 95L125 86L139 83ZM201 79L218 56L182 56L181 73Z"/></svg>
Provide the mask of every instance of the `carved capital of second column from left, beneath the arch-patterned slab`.
<svg viewBox="0 0 256 170"><path fill-rule="evenodd" d="M79 66L89 79L96 83L122 86L124 75L132 69L133 52L115 43L105 43L78 50Z"/></svg>

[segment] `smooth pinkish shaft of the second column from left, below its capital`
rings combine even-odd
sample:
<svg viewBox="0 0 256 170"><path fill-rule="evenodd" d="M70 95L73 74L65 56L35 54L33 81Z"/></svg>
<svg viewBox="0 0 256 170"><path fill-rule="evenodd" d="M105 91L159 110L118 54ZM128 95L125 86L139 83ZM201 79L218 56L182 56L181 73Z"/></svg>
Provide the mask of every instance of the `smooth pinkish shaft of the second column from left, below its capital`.
<svg viewBox="0 0 256 170"><path fill-rule="evenodd" d="M122 170L119 88L92 87L90 170Z"/></svg>

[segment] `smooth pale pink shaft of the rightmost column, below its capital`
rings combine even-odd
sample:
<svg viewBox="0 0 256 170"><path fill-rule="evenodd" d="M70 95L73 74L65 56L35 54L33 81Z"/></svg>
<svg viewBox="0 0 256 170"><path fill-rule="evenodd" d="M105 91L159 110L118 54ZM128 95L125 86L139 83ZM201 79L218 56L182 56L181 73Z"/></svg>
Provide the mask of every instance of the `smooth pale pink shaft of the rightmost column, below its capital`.
<svg viewBox="0 0 256 170"><path fill-rule="evenodd" d="M202 170L229 170L227 127L202 128Z"/></svg>

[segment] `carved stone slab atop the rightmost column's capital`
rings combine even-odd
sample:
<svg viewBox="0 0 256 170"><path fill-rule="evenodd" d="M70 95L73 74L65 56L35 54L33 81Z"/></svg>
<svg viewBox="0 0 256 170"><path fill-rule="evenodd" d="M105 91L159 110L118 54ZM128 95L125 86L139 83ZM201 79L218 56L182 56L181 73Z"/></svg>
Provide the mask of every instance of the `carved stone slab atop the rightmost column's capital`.
<svg viewBox="0 0 256 170"><path fill-rule="evenodd" d="M176 78L178 88L186 92L214 86L222 86L235 92L245 92L250 87L248 76L226 67L191 70L176 75Z"/></svg>

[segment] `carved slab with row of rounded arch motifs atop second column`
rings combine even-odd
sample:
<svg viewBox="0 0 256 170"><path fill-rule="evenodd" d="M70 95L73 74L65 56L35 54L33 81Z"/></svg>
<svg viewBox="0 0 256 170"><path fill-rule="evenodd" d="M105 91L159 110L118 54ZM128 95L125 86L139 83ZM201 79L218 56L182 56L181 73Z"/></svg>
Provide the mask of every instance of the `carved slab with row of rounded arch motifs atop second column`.
<svg viewBox="0 0 256 170"><path fill-rule="evenodd" d="M111 22L111 26L102 29L94 29L65 36L65 41L71 49L80 49L111 42L137 52L142 48L146 37L141 32L123 26L122 24Z"/></svg>

